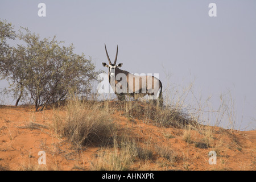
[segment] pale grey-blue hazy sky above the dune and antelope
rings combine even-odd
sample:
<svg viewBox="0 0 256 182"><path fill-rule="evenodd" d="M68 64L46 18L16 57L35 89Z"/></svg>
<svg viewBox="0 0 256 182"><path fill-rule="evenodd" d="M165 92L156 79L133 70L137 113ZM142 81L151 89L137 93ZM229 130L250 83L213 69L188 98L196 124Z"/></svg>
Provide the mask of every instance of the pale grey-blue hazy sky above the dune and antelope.
<svg viewBox="0 0 256 182"><path fill-rule="evenodd" d="M46 4L46 17L38 4ZM210 17L209 3L217 17ZM28 27L42 38L57 36L76 53L92 56L104 69L104 43L110 59L118 44L118 61L131 73L171 74L171 85L195 81L196 97L212 96L217 109L221 93L235 103L240 129L256 121L256 1L0 1L0 18ZM106 71L106 69L104 69ZM5 87L0 82L0 89ZM248 127L249 126L249 127Z"/></svg>

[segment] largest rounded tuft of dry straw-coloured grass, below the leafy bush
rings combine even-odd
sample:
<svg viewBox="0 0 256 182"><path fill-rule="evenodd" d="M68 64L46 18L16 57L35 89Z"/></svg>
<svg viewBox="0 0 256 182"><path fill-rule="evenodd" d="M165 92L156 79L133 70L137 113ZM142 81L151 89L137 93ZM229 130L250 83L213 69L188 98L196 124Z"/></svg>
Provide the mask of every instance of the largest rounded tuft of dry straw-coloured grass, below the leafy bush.
<svg viewBox="0 0 256 182"><path fill-rule="evenodd" d="M73 97L67 101L63 111L55 113L53 127L63 137L67 137L77 149L88 142L103 142L111 138L117 129L110 118L109 109L97 102L80 101Z"/></svg>

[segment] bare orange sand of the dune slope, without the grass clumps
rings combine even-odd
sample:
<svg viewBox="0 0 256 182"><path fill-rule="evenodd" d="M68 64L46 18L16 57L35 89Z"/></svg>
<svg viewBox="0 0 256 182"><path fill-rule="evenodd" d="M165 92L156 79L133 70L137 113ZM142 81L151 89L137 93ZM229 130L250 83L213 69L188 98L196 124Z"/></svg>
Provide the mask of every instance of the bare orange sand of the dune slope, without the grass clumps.
<svg viewBox="0 0 256 182"><path fill-rule="evenodd" d="M76 151L66 138L51 127L52 110L34 112L29 107L0 106L0 170L90 170L100 146L90 145ZM192 142L183 140L184 131L157 127L116 112L115 122L143 145L150 146L153 158L138 160L132 170L255 170L256 131L214 131L214 147L196 147L202 141L199 130L192 130ZM170 137L171 136L171 137ZM170 164L154 150L172 148L177 160ZM46 151L46 165L38 164L38 152ZM217 164L208 163L208 152L217 152Z"/></svg>

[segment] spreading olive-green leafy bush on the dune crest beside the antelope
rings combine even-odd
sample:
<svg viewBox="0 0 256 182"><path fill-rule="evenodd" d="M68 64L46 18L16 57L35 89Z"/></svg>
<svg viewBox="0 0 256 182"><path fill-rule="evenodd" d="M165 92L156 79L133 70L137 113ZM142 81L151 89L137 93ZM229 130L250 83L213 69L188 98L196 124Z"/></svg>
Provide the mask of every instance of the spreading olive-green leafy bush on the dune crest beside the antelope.
<svg viewBox="0 0 256 182"><path fill-rule="evenodd" d="M2 94L11 94L16 99L15 106L20 100L34 102L38 111L47 104L65 100L71 92L84 97L90 92L98 72L84 53L73 52L72 44L65 47L56 36L40 38L23 27L16 33L11 23L2 20L0 28L0 78L9 82ZM18 44L11 47L8 39L17 39Z"/></svg>

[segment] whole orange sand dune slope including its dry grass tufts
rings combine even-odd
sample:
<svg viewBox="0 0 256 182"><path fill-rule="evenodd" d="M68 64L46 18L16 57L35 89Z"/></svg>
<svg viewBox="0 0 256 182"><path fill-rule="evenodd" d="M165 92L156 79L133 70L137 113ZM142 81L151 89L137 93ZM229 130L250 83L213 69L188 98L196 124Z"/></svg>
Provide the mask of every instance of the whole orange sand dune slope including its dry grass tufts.
<svg viewBox="0 0 256 182"><path fill-rule="evenodd" d="M255 131L189 123L188 118L175 126L175 121L159 125L146 112L127 115L125 102L131 101L71 97L38 112L33 105L1 106L0 166L6 170L255 170ZM138 101L128 109L134 107L158 109ZM162 117L162 112L156 114ZM37 162L41 150L46 151L47 165ZM208 163L209 151L216 152L216 165Z"/></svg>

